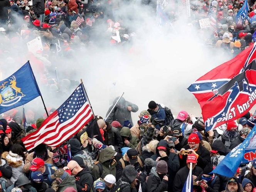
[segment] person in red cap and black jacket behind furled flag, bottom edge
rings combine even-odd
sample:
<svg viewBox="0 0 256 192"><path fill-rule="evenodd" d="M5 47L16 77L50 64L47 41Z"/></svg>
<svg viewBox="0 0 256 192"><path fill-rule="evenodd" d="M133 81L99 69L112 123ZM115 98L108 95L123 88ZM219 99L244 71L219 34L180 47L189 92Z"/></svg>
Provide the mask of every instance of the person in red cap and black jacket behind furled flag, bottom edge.
<svg viewBox="0 0 256 192"><path fill-rule="evenodd" d="M190 163L192 163L192 175L199 176L203 171L202 168L196 166L197 165L197 157L194 154L187 155L186 166L181 168L175 175L175 179L173 181L173 191L174 192L182 192L182 188L187 180L190 170Z"/></svg>

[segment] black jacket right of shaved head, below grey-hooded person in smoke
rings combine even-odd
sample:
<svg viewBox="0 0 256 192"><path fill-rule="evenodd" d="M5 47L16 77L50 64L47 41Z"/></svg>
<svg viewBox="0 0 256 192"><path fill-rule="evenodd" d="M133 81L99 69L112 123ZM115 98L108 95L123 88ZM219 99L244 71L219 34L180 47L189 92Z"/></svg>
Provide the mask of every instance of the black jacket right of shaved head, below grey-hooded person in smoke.
<svg viewBox="0 0 256 192"><path fill-rule="evenodd" d="M104 134L105 144L113 145L115 147L116 152L121 152L121 148L123 146L123 140L120 134L120 131L113 127L110 123L106 122L107 128L106 133Z"/></svg>

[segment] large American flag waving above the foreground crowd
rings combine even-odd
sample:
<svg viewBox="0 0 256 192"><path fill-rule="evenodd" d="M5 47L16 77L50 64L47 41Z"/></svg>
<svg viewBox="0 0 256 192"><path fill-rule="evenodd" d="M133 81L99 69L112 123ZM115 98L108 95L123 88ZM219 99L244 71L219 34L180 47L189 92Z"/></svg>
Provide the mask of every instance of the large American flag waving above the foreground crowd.
<svg viewBox="0 0 256 192"><path fill-rule="evenodd" d="M58 147L92 118L93 112L80 84L72 95L44 120L37 131L22 138L22 141L28 151L41 143Z"/></svg>

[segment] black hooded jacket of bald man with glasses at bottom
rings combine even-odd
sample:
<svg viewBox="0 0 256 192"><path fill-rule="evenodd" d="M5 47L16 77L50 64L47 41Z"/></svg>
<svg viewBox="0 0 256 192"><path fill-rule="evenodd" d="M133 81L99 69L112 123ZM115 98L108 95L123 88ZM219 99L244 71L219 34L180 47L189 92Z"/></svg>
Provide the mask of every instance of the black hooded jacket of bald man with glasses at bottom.
<svg viewBox="0 0 256 192"><path fill-rule="evenodd" d="M91 170L87 166L77 173L75 179L77 192L89 192L91 190L94 178L91 174Z"/></svg>

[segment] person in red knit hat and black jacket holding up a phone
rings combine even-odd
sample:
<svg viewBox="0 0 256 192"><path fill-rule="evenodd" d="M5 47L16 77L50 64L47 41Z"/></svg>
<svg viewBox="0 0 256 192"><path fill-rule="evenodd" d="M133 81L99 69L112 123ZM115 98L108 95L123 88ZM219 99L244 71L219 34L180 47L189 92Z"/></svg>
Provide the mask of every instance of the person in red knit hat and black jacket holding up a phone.
<svg viewBox="0 0 256 192"><path fill-rule="evenodd" d="M185 162L187 159L187 155L183 154L183 150L190 150L192 154L197 155L197 166L202 169L208 165L211 161L210 152L200 144L200 139L197 133L192 133L189 135L188 144L184 146L180 150L179 158L180 158L180 167L185 166Z"/></svg>

